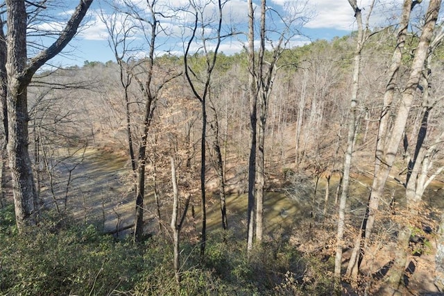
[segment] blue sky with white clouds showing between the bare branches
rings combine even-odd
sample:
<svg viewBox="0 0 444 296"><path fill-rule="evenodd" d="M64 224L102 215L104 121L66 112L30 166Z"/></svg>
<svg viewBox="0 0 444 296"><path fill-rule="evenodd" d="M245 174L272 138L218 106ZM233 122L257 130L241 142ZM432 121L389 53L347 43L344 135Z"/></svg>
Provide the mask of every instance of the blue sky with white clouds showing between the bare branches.
<svg viewBox="0 0 444 296"><path fill-rule="evenodd" d="M115 0L114 0L115 1ZM118 3L122 3L125 0L117 0ZM126 0L128 1L128 0ZM196 2L203 3L205 0L194 0ZM210 0L206 0L210 1ZM363 13L369 10L369 4L371 0L358 0L359 7L363 8ZM391 6L387 4L380 4L381 2L392 3ZM58 8L55 12L60 15L60 19L47 21L44 24L40 24L43 27L50 28L62 28L63 17L67 18L74 10L78 0L67 0L65 2L65 7ZM139 8L142 13L146 13L146 0L133 0L135 6ZM183 10L176 10L173 13L174 17L171 16L171 11L168 11L166 6L169 8L175 7L180 8L188 3L188 0L157 0L160 6L159 10L162 10L164 19L160 19L162 26L165 31L169 32L160 34L159 41L160 46L157 48L157 54L165 54L169 52L172 54L182 54L183 53L183 39L185 41L189 37L191 32L189 29L185 28L187 22L192 20L192 16L189 13L185 13ZM255 10L259 12L259 1L253 0L256 7ZM377 1L374 8L374 17L370 19L373 26L378 26L382 22L388 22L390 19L395 19L400 7L400 0L392 1ZM302 44L307 44L313 40L326 39L331 40L332 38L338 36L350 34L356 29L355 17L348 0L268 0L268 8L275 10L282 16L289 15L289 12L296 12L296 19L293 22L293 28L298 31L296 34L291 34L289 38L289 47L296 47ZM229 0L224 6L223 13L225 15L223 19L224 28L223 30L228 31L246 31L246 19L247 19L247 0ZM420 8L422 9L422 8ZM85 60L89 61L99 61L107 62L108 60L114 60L114 54L110 49L109 45L109 34L107 31L107 26L103 23L102 19L109 19L112 16L112 10L107 1L96 0L93 2L87 18L84 22L86 24L85 28L78 33L76 38L71 41L69 47L63 51L61 56L53 58L50 64L56 66L66 67L69 65L83 65ZM205 10L204 15L208 19L212 17L211 6L208 6ZM149 15L142 15L148 17ZM117 14L116 18L116 28L123 28L124 14ZM282 31L283 26L277 15L273 16L273 19L269 19L273 24L271 27L275 28L276 31ZM127 23L128 24L128 23ZM214 32L214 31L213 31ZM293 32L294 33L294 32ZM271 35L273 38L273 35ZM277 38L277 37L276 37ZM146 40L144 40L141 32L133 32L128 38L130 46L133 47L135 56L144 56L146 54ZM245 35L235 35L232 38L225 38L221 44L220 51L224 54L234 54L235 52L241 51L245 44ZM196 42L191 47L191 51L197 50L200 44Z"/></svg>

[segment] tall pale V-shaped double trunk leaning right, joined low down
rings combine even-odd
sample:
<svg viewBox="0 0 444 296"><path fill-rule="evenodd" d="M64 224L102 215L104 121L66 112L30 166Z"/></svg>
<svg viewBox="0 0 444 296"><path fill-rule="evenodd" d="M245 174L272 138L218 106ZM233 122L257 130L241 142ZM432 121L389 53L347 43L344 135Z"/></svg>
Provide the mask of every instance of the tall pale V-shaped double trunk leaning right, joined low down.
<svg viewBox="0 0 444 296"><path fill-rule="evenodd" d="M398 50L395 50L393 54L393 60L391 65L391 74L386 87L386 94L384 94L384 108L382 117L379 123L379 138L377 141L377 151L376 151L376 163L375 163L375 177L373 179L372 190L370 193L370 198L368 201L368 211L366 217L364 218L364 246L361 248L360 254L364 256L364 252L368 248L370 242L370 235L373 230L373 224L375 222L375 215L379 206L379 200L382 199L384 187L388 174L391 171L393 162L395 161L395 156L398 152L398 147L400 145L400 140L404 133L404 129L407 123L407 117L411 108L411 103L413 101L414 92L418 87L420 81L420 76L422 74L422 67L424 66L425 59L427 58L427 51L429 49L429 44L433 35L434 26L436 24L436 19L438 17L438 11L441 6L441 0L432 0L429 3L429 8L427 10L427 17L425 24L422 27L422 34L420 36L420 41L418 47L416 48L416 54L413 58L413 63L411 64L411 71L409 74L409 79L405 85L404 91L402 92L402 99L398 110L396 111L395 122L393 124L393 129L391 129L388 135L388 114L387 108L393 99L392 92L394 92L395 81L393 81L393 76L396 75L400 65L400 58L402 53L398 56ZM407 24L409 21L409 15L411 10L411 1L404 1L404 8L402 13L402 23L400 28L400 34L398 35L398 47L404 43L405 33L407 30ZM405 21L405 22L404 22ZM399 63L398 63L399 58ZM360 261L357 261L358 268ZM350 261L350 265L354 265L356 262Z"/></svg>

